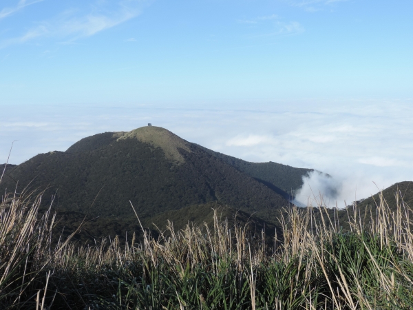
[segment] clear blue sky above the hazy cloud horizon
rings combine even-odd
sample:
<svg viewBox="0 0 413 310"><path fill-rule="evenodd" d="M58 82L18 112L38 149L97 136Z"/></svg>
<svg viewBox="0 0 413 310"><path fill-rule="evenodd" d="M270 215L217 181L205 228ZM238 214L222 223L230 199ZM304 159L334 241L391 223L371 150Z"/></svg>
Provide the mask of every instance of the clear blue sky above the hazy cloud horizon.
<svg viewBox="0 0 413 310"><path fill-rule="evenodd" d="M1 5L2 103L412 96L412 1Z"/></svg>

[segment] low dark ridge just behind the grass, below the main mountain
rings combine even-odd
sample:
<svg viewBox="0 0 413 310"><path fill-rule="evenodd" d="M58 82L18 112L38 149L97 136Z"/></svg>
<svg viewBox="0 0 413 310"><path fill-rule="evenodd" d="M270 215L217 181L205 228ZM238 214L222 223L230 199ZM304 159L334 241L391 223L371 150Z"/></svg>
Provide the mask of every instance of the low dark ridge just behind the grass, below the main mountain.
<svg viewBox="0 0 413 310"><path fill-rule="evenodd" d="M151 232L152 236L160 236L162 232L165 236L169 236L167 229L168 220L173 224L174 231L178 232L181 229L185 229L187 225L190 227L198 226L201 229L205 229L204 225L207 225L209 229L214 227L213 214L214 210L218 211L219 223L222 223L225 219L229 221L229 227L233 225L247 225L248 230L261 234L264 230L267 236L273 236L275 234L276 226L272 223L268 223L265 220L251 216L247 212L240 211L221 203L213 202L202 205L190 205L183 207L182 209L165 211L161 214L149 218L140 218L142 226ZM81 231L74 236L75 240L89 242L94 244L100 242L101 238L114 238L119 236L120 242L124 243L126 240L131 240L134 233L138 238L142 237L142 229L140 228L138 219L135 216L129 218L111 218L105 216L91 216L72 211L61 211L57 216L58 223L55 229L54 240L57 241L59 236L69 236L83 220L83 227ZM280 237L280 229L277 229L277 234ZM62 234L63 232L63 234Z"/></svg>

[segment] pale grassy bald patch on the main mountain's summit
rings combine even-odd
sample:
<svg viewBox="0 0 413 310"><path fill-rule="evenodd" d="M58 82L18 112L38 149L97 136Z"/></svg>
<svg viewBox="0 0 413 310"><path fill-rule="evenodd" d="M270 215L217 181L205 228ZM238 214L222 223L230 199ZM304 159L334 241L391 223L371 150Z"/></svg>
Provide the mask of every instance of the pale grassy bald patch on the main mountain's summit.
<svg viewBox="0 0 413 310"><path fill-rule="evenodd" d="M136 130L123 133L118 138L118 141L127 138L136 138L140 142L149 143L154 147L160 147L169 160L178 161L179 163L184 163L184 158L180 152L178 152L178 148L191 152L187 141L162 127L140 127Z"/></svg>

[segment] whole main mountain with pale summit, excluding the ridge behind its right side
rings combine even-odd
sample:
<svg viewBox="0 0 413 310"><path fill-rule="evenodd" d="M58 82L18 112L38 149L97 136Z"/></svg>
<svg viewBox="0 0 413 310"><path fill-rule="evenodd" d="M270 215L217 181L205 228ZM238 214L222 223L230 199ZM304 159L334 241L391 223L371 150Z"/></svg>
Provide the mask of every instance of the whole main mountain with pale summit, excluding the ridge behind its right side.
<svg viewBox="0 0 413 310"><path fill-rule="evenodd" d="M78 218L74 223L86 216L87 236L132 229L129 200L142 220L218 202L274 223L275 211L288 205L271 187L160 127L97 134L66 152L39 154L8 170L0 190L14 189L17 181L18 191L29 184L47 188L43 203L54 200L59 214ZM70 233L73 225L62 220L63 227Z"/></svg>

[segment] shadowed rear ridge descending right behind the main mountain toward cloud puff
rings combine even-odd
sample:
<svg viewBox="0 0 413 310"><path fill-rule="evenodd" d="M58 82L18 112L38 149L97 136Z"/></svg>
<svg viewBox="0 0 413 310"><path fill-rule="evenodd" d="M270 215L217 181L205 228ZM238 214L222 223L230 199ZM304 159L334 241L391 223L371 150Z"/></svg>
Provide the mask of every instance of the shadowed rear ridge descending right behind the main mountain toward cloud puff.
<svg viewBox="0 0 413 310"><path fill-rule="evenodd" d="M200 146L201 147L201 146ZM260 183L270 187L275 192L282 194L288 198L291 194L295 194L297 189L302 187L303 176L307 176L313 169L295 168L279 163L251 163L233 156L225 155L219 152L214 152L211 149L202 147L205 152L220 158L224 163L227 163L244 174L255 178Z"/></svg>

